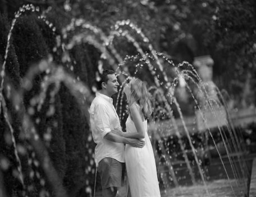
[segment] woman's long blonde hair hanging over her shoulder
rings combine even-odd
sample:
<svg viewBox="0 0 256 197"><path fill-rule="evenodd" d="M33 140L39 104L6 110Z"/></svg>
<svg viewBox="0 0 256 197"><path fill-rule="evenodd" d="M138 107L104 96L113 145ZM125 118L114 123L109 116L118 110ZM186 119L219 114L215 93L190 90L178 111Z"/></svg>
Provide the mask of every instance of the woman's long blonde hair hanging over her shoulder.
<svg viewBox="0 0 256 197"><path fill-rule="evenodd" d="M152 114L152 107L149 100L149 93L146 85L140 79L132 79L130 81L131 94L128 101L128 112L130 113L130 107L136 103L139 105L141 113L143 114L143 120L149 118Z"/></svg>

